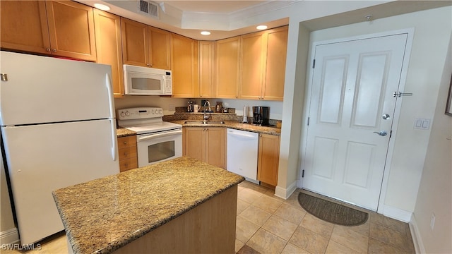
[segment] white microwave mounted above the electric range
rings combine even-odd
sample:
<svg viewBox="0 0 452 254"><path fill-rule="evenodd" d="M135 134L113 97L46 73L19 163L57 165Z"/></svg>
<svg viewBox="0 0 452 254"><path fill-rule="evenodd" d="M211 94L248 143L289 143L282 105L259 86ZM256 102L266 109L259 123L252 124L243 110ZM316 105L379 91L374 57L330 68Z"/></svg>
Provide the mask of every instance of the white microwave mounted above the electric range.
<svg viewBox="0 0 452 254"><path fill-rule="evenodd" d="M171 71L124 64L126 95L172 95Z"/></svg>

